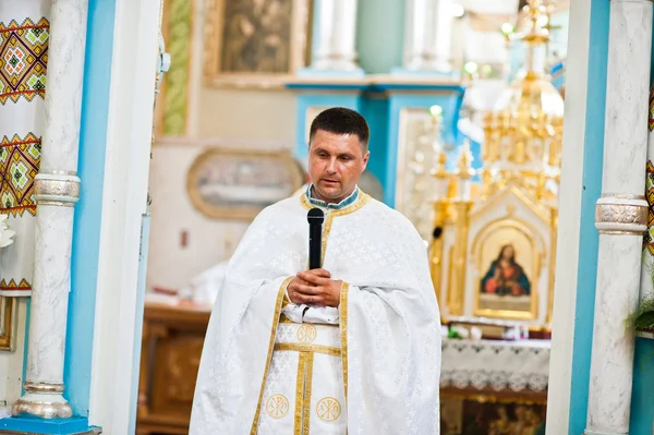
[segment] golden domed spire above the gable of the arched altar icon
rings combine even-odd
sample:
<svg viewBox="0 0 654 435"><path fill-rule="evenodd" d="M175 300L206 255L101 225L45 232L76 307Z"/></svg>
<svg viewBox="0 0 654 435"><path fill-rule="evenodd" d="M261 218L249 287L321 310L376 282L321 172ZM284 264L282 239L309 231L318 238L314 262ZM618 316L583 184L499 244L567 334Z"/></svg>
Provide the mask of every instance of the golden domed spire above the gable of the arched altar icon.
<svg viewBox="0 0 654 435"><path fill-rule="evenodd" d="M541 0L529 2L524 22L528 28L512 37L524 44L525 65L484 119L483 196L514 183L540 202L555 203L564 99L545 72L549 16Z"/></svg>

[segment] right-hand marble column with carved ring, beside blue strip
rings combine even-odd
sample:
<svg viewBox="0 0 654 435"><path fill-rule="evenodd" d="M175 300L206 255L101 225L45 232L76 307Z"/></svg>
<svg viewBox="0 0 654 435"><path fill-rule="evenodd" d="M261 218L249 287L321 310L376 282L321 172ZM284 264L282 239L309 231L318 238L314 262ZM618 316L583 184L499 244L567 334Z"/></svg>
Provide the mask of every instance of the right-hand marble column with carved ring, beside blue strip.
<svg viewBox="0 0 654 435"><path fill-rule="evenodd" d="M629 433L635 312L647 203L645 161L652 2L610 2L606 124L586 435Z"/></svg>

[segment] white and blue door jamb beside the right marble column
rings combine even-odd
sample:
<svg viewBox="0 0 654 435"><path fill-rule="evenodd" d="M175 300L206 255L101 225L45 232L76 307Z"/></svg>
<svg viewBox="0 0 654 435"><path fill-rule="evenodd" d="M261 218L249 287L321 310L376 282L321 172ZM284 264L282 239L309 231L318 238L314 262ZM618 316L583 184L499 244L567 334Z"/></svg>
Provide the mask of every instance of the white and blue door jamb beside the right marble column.
<svg viewBox="0 0 654 435"><path fill-rule="evenodd" d="M602 193L609 2L570 3L547 435L586 423Z"/></svg>

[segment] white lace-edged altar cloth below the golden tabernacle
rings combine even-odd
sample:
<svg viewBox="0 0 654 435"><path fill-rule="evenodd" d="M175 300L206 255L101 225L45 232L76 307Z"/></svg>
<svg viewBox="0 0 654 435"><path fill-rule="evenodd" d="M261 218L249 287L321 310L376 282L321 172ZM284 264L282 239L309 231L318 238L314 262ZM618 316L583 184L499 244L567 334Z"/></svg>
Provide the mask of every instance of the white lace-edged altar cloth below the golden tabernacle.
<svg viewBox="0 0 654 435"><path fill-rule="evenodd" d="M543 391L547 388L549 349L547 340L443 339L440 386Z"/></svg>

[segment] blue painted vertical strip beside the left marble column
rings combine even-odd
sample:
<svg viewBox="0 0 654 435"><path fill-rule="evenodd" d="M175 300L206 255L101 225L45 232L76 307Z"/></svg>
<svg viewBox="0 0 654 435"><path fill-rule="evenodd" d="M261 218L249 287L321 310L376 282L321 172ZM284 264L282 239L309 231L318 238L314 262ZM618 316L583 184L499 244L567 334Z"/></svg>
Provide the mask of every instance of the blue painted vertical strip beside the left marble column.
<svg viewBox="0 0 654 435"><path fill-rule="evenodd" d="M82 191L75 207L73 227L71 293L63 374L66 386L64 396L80 416L88 415L90 391L114 8L114 0L88 2L78 162Z"/></svg>

